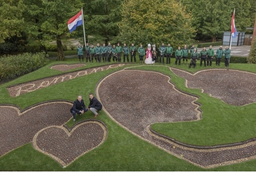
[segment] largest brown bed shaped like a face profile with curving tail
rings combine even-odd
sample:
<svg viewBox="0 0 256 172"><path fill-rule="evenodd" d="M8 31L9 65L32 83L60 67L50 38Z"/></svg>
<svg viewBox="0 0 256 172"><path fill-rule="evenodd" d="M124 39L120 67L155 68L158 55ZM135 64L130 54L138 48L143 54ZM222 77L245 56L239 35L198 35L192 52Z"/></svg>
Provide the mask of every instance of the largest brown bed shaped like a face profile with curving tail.
<svg viewBox="0 0 256 172"><path fill-rule="evenodd" d="M99 82L97 94L106 113L119 125L197 166L213 168L255 159L255 142L223 148L191 148L151 133L149 126L154 122L198 119L196 106L191 104L196 98L175 90L168 80L155 72L119 71Z"/></svg>

